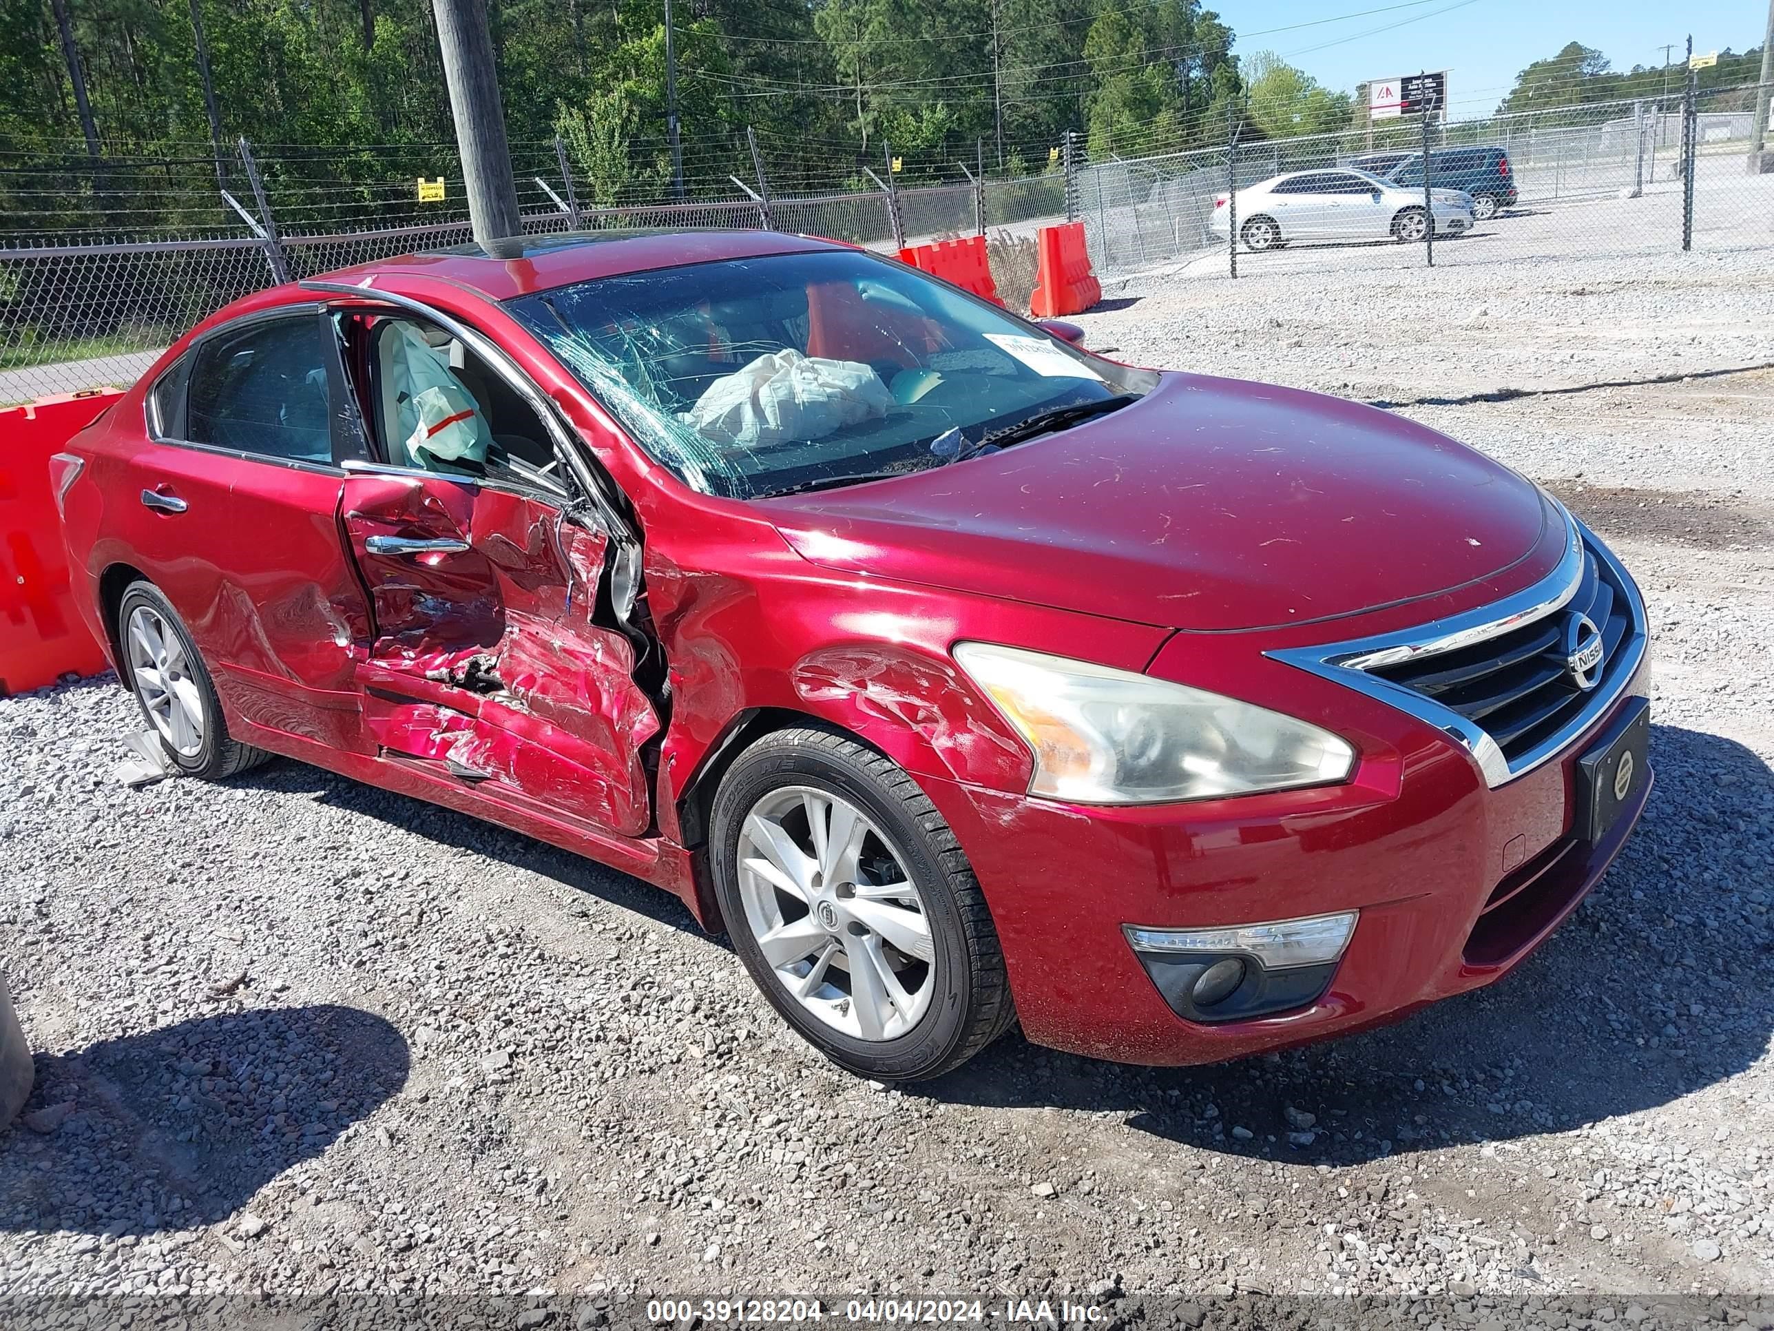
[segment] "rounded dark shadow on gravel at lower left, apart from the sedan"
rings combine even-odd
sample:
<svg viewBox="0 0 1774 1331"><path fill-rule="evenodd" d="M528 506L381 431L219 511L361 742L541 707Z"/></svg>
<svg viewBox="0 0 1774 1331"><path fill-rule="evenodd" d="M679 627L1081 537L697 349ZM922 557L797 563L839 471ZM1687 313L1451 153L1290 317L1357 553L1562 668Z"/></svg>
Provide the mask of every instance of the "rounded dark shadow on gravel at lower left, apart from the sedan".
<svg viewBox="0 0 1774 1331"><path fill-rule="evenodd" d="M389 1022L334 1004L39 1054L37 1090L0 1129L0 1232L222 1221L399 1091L408 1063Z"/></svg>

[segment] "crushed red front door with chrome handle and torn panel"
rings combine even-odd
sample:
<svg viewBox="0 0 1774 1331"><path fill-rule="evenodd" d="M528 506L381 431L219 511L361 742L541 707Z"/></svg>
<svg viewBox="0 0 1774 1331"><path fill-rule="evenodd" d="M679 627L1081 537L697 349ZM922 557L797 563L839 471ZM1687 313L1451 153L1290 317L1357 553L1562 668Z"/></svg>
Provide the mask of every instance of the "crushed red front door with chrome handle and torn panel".
<svg viewBox="0 0 1774 1331"><path fill-rule="evenodd" d="M593 619L607 534L539 495L413 472L349 476L339 511L371 593L357 674L381 752L644 832L658 717L630 641Z"/></svg>

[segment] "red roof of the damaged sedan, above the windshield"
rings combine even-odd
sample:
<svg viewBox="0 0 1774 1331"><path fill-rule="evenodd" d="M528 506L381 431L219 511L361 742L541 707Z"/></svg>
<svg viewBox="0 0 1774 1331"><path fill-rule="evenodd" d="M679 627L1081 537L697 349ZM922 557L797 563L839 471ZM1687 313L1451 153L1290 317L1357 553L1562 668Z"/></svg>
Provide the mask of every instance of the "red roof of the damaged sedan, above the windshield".
<svg viewBox="0 0 1774 1331"><path fill-rule="evenodd" d="M853 248L781 231L568 231L419 250L321 273L314 280L374 286L376 277L440 277L488 300L513 300L596 277L644 273L720 259Z"/></svg>

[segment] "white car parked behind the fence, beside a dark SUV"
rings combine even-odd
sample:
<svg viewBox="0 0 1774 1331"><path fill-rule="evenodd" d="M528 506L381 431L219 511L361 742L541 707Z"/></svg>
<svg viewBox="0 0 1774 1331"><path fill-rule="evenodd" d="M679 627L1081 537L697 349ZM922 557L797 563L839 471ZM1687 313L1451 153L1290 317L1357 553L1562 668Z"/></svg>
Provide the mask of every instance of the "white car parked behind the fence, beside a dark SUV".
<svg viewBox="0 0 1774 1331"><path fill-rule="evenodd" d="M1472 197L1464 190L1433 190L1437 236L1460 236L1472 227ZM1231 209L1226 195L1213 197L1210 234L1226 236ZM1238 190L1238 238L1252 250L1272 250L1291 240L1401 240L1421 241L1423 190L1407 190L1366 170L1293 170Z"/></svg>

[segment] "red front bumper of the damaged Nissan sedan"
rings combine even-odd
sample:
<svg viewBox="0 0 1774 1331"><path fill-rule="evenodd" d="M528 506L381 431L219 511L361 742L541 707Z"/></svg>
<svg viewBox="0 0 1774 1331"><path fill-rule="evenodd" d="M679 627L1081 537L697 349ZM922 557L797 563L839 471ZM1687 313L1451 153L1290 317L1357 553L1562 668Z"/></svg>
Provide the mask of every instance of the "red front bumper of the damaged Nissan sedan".
<svg viewBox="0 0 1774 1331"><path fill-rule="evenodd" d="M1648 777L1597 845L1570 838L1577 754L1630 701L1497 790L1433 738L1396 784L1364 763L1345 786L1144 809L924 786L992 905L1029 1040L1119 1063L1212 1063L1396 1020L1513 971L1600 880L1644 809ZM1329 987L1252 1020L1178 1017L1123 935L1123 925L1348 909L1361 918Z"/></svg>

